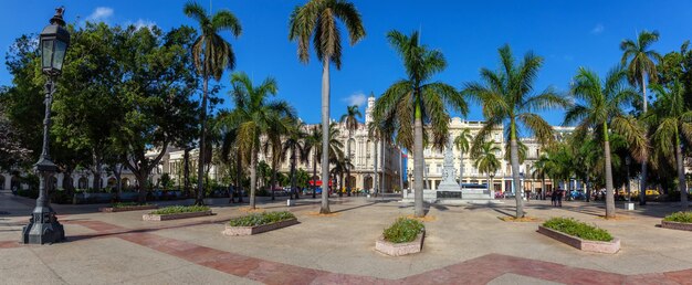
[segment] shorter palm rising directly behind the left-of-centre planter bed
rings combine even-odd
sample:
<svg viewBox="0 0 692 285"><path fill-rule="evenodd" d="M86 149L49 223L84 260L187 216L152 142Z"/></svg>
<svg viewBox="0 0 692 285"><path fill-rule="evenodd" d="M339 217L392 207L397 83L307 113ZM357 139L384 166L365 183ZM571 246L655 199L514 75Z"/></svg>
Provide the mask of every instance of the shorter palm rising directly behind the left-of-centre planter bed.
<svg viewBox="0 0 692 285"><path fill-rule="evenodd" d="M253 85L245 73L231 76L231 96L235 109L229 116L229 123L238 126L239 147L248 154L250 160L250 208L255 208L256 165L260 152L260 138L270 130L289 128L286 117L295 119L295 110L284 101L269 101L277 92L276 81L268 77L260 85Z"/></svg>

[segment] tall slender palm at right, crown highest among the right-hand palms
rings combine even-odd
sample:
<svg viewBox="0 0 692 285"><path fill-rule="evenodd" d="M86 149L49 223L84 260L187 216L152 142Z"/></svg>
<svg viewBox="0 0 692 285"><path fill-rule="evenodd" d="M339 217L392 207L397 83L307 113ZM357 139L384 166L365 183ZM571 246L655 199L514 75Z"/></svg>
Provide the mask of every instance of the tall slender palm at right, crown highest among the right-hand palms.
<svg viewBox="0 0 692 285"><path fill-rule="evenodd" d="M658 71L656 62L662 62L663 57L650 46L659 41L659 32L642 31L637 35L637 40L623 40L620 43L622 50L622 59L620 63L627 66L627 78L630 84L641 88L643 105L642 115L647 114L647 77L651 83L658 81ZM647 134L644 134L647 135ZM647 139L647 137L644 137ZM648 154L644 152L643 162L641 163L641 181L639 183L639 204L647 203L647 161Z"/></svg>

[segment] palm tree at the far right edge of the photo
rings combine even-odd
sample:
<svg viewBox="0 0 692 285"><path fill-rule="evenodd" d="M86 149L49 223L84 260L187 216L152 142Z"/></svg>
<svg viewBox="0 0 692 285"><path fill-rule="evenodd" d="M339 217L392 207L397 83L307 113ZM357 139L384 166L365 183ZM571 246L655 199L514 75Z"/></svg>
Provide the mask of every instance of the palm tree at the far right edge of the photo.
<svg viewBox="0 0 692 285"><path fill-rule="evenodd" d="M653 133L653 142L657 150L669 161L675 162L678 169L678 188L682 208L688 207L688 189L684 178L682 144L692 142L692 110L684 107L684 87L680 82L673 82L670 89L660 85L652 86L657 95L654 116L657 129ZM674 149L674 151L673 151Z"/></svg>

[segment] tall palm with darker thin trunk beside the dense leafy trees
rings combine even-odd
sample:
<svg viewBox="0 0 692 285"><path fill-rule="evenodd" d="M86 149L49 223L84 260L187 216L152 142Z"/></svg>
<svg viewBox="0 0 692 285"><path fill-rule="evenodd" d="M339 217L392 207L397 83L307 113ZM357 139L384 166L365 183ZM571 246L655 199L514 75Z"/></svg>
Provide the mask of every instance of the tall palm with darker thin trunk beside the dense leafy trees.
<svg viewBox="0 0 692 285"><path fill-rule="evenodd" d="M238 38L242 28L240 21L228 10L220 10L214 14L208 14L205 8L197 2L188 2L182 8L184 13L197 21L200 27L201 34L192 44L192 57L195 59L195 68L197 74L202 77L202 112L199 120L201 125L199 148L200 154L206 151L206 123L207 123L207 98L209 78L213 77L217 82L221 80L224 70L233 70L235 67L235 54L231 44L227 42L219 32L230 31L233 36ZM205 156L199 156L199 165L197 177L205 175ZM197 179L197 201L203 203L203 179Z"/></svg>

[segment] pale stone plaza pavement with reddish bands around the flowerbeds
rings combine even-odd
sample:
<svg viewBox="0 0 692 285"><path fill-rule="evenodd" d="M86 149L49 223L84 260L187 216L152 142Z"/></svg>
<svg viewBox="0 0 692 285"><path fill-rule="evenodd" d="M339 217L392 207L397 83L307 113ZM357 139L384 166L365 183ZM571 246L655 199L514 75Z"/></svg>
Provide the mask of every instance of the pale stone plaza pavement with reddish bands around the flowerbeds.
<svg viewBox="0 0 692 285"><path fill-rule="evenodd" d="M0 205L9 202L0 194ZM13 211L33 201L13 198ZM25 203L29 202L29 203ZM223 222L244 214L213 207L217 215L144 222L141 213L96 213L55 205L69 242L17 243L27 217L0 217L2 284L692 284L692 235L656 225L669 204L650 204L604 220L602 205L567 202L556 209L531 201L538 219L574 217L622 240L615 255L584 253L536 233L537 222L499 218L500 205L432 205L420 254L374 251L381 230L412 208L394 199L334 198L335 217L318 217L318 200L265 202L293 211L300 224L253 236L223 236ZM0 211L2 208L0 208ZM24 209L27 210L27 209ZM29 207L28 211L30 212Z"/></svg>

